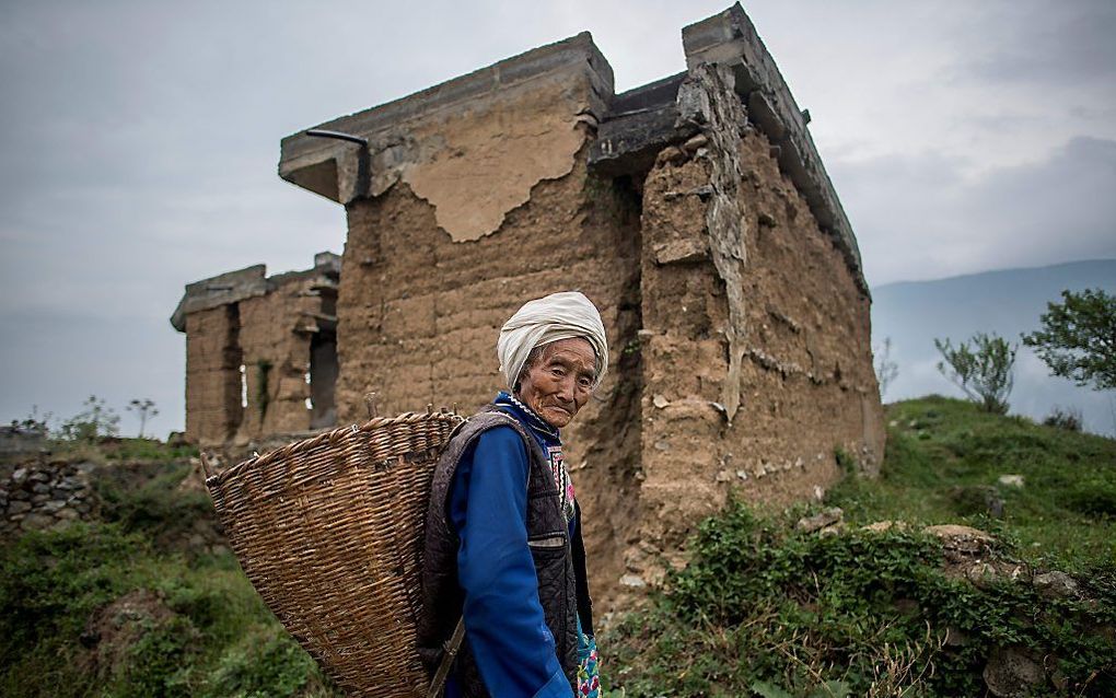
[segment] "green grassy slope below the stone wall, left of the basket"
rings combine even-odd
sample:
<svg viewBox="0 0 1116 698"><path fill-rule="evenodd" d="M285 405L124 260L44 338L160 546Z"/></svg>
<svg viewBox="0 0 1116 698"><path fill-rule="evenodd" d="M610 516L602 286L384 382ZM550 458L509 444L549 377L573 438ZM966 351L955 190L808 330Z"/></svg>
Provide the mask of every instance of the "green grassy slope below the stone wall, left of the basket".
<svg viewBox="0 0 1116 698"><path fill-rule="evenodd" d="M160 554L119 524L0 549L0 695L326 697L231 556Z"/></svg>

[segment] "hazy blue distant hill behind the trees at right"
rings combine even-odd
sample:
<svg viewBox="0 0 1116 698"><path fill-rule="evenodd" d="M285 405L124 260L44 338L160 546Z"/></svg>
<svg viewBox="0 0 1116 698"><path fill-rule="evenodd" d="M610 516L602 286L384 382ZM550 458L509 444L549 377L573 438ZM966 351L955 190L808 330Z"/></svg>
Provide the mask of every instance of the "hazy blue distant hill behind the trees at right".
<svg viewBox="0 0 1116 698"><path fill-rule="evenodd" d="M899 281L873 289L873 345L892 340L892 358L899 375L888 388L892 402L943 393L960 395L941 373L935 337L964 340L975 332L995 332L1018 341L1037 329L1050 300L1062 289L1103 288L1116 294L1116 259L1077 261L1033 269L1003 269L933 281ZM1055 405L1083 411L1086 429L1116 432L1116 394L1077 388L1049 376L1046 364L1026 347L1016 363L1011 412L1042 419Z"/></svg>

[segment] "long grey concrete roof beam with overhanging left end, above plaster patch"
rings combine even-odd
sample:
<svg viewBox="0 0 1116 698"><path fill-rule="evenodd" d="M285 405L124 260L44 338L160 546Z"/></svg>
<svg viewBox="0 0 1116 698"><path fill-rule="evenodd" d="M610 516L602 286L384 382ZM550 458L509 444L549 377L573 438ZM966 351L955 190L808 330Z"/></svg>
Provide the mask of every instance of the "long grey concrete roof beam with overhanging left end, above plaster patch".
<svg viewBox="0 0 1116 698"><path fill-rule="evenodd" d="M378 160L397 159L396 151L412 145L402 127L407 122L466 107L529 80L568 73L588 77L594 93L590 108L602 119L613 97L613 70L593 36L583 31L407 97L314 126L367 138L372 152L356 143L309 136L306 131L287 136L280 146L279 176L343 204L375 194L393 183L375 180ZM362 159L367 161L364 172Z"/></svg>

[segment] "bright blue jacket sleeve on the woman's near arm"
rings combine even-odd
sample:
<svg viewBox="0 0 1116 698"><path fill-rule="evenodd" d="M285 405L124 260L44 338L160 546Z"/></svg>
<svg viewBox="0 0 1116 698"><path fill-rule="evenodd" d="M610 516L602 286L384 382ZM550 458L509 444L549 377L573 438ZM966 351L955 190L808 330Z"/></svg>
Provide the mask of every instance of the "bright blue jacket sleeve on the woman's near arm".
<svg viewBox="0 0 1116 698"><path fill-rule="evenodd" d="M571 698L527 546L528 472L527 447L510 427L482 433L458 465L450 516L461 537L465 639L492 698Z"/></svg>

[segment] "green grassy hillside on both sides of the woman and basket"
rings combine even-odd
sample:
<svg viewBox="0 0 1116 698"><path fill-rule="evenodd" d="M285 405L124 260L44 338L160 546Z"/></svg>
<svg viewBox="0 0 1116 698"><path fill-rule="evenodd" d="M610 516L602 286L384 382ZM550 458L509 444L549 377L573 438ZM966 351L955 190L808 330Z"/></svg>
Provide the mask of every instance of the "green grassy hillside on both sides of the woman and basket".
<svg viewBox="0 0 1116 698"><path fill-rule="evenodd" d="M839 453L826 501L705 522L600 638L606 696L1113 695L1116 441L936 396L888 420L879 478ZM0 463L6 517L60 463L95 506L3 542L0 695L339 697L223 545L189 450L54 446Z"/></svg>

